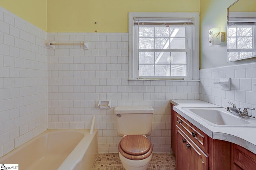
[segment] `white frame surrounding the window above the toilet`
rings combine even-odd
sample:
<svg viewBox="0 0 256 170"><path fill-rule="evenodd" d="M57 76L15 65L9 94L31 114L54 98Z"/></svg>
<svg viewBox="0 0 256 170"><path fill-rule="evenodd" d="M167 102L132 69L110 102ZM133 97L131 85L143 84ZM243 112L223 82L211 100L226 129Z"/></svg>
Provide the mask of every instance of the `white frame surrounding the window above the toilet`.
<svg viewBox="0 0 256 170"><path fill-rule="evenodd" d="M129 80L137 80L138 78L138 55L136 55L136 47L138 49L138 31L134 31L135 18L193 18L194 28L192 36L192 47L189 57L188 76L182 78L185 80L199 80L199 13L198 12L130 12L129 13ZM158 77L154 77L158 79ZM174 77L159 78L161 80L172 80ZM180 79L181 80L181 79Z"/></svg>

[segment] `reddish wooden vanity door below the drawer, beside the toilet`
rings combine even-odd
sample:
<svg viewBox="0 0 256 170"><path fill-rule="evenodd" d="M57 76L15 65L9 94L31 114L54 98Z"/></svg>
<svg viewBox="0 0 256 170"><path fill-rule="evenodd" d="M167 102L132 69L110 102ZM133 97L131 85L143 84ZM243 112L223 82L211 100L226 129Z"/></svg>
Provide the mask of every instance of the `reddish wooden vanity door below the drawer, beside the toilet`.
<svg viewBox="0 0 256 170"><path fill-rule="evenodd" d="M177 129L176 170L208 170L208 156Z"/></svg>

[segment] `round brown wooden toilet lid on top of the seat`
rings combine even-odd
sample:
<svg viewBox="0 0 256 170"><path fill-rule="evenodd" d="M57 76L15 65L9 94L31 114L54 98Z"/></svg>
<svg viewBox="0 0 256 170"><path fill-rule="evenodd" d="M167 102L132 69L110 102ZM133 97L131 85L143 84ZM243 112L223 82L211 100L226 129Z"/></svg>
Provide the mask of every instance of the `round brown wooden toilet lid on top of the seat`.
<svg viewBox="0 0 256 170"><path fill-rule="evenodd" d="M151 143L142 135L127 135L120 141L120 147L124 152L132 155L145 154L150 150Z"/></svg>

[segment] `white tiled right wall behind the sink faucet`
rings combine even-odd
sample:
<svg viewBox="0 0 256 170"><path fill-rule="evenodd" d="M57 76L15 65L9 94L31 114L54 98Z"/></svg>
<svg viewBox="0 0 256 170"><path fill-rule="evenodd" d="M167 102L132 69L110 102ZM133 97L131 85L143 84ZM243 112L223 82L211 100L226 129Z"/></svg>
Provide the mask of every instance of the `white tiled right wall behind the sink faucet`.
<svg viewBox="0 0 256 170"><path fill-rule="evenodd" d="M213 84L220 78L231 78L231 90L221 90L220 85ZM238 64L200 70L199 99L218 106L237 108L256 108L256 63ZM256 116L256 111L248 110Z"/></svg>

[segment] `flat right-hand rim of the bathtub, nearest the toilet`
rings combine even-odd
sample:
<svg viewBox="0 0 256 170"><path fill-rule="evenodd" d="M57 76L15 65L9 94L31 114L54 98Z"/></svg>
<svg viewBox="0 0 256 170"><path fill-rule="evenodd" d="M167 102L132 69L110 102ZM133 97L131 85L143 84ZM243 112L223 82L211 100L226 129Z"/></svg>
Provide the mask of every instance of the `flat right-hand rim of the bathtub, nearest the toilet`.
<svg viewBox="0 0 256 170"><path fill-rule="evenodd" d="M92 134L90 134L90 129L88 133L85 134L85 137L78 143L78 145L72 150L68 157L62 162L58 170L72 170L75 166L82 161L84 154L88 150L94 136L97 135L97 130L95 129ZM86 137L93 136L93 137ZM97 136L96 136L97 137ZM85 145L84 145L85 144Z"/></svg>

